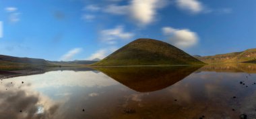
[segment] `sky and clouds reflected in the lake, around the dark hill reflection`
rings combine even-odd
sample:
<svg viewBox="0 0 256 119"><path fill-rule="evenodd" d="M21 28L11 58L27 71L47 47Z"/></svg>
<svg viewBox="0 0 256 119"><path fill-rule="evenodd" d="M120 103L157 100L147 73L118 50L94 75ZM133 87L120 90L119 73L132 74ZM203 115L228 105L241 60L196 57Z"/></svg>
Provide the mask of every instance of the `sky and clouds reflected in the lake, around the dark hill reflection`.
<svg viewBox="0 0 256 119"><path fill-rule="evenodd" d="M140 93L101 72L47 72L3 80L0 115L8 107L14 114L9 118L237 118L243 113L253 117L254 79L255 74L200 72L163 90ZM126 114L127 109L135 113Z"/></svg>

